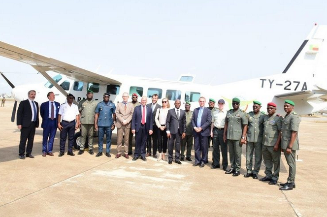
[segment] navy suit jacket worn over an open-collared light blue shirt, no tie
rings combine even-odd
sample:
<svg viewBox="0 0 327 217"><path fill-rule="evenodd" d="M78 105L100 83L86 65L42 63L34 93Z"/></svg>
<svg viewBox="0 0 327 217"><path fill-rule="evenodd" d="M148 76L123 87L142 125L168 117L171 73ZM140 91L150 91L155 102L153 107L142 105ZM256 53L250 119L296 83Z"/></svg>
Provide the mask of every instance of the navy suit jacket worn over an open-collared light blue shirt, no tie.
<svg viewBox="0 0 327 217"><path fill-rule="evenodd" d="M197 116L200 111L200 108L196 108L193 111L191 124L192 128L196 127ZM202 117L201 117L201 136L210 136L210 125L211 125L211 111L208 108L203 108ZM196 131L193 129L193 135L196 135Z"/></svg>

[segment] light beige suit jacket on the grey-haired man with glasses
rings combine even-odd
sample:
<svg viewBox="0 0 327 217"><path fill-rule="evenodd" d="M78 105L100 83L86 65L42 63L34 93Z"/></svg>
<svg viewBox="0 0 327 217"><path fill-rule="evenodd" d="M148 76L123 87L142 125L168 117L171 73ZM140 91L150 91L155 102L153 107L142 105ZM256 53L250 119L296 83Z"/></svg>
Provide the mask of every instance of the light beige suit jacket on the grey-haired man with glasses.
<svg viewBox="0 0 327 217"><path fill-rule="evenodd" d="M126 120L126 128L131 128L131 118L133 117L134 106L131 102L127 103L126 111L123 102L119 102L116 107L116 127L121 128L123 121Z"/></svg>

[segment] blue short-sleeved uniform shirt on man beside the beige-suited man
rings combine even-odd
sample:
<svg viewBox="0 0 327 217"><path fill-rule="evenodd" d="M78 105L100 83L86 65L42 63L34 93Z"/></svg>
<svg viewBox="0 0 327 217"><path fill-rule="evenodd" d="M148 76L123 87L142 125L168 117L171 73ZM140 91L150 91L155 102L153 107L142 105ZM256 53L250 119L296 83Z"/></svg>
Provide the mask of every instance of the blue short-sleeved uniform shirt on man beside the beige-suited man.
<svg viewBox="0 0 327 217"><path fill-rule="evenodd" d="M112 126L114 124L113 114L116 113L116 106L112 102L106 104L101 101L97 105L96 113L99 114L98 126Z"/></svg>

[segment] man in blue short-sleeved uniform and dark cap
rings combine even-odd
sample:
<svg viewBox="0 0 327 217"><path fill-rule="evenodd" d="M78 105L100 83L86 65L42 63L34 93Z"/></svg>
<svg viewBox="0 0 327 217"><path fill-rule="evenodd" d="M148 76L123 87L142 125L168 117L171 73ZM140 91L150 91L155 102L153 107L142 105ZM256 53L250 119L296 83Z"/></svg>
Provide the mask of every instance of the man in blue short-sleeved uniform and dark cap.
<svg viewBox="0 0 327 217"><path fill-rule="evenodd" d="M96 116L94 121L94 127L98 130L98 147L99 151L98 156L102 156L102 148L103 148L103 137L105 133L106 137L106 149L105 155L107 157L111 157L110 148L111 148L111 131L115 129L116 122L116 106L114 103L109 101L110 94L103 94L103 101L99 102L96 107Z"/></svg>

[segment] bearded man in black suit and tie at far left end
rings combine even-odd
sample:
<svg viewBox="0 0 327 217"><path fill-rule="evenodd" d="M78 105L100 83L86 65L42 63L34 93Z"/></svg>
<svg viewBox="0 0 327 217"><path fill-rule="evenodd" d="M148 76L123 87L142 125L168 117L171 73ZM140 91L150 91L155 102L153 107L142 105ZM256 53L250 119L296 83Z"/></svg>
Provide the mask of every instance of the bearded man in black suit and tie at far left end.
<svg viewBox="0 0 327 217"><path fill-rule="evenodd" d="M35 128L38 127L38 103L34 101L36 92L29 91L28 99L19 103L17 110L17 128L21 130L19 158L34 158L32 155ZM27 147L26 147L27 141Z"/></svg>

